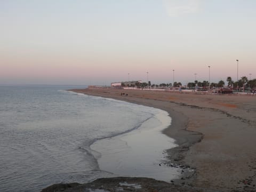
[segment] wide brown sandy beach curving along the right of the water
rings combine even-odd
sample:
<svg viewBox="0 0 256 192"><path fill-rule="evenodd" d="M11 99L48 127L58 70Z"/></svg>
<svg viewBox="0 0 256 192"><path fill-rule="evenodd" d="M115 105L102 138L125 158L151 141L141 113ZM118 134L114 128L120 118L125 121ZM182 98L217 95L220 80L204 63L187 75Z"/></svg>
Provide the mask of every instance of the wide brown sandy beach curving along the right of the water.
<svg viewBox="0 0 256 192"><path fill-rule="evenodd" d="M172 124L163 132L179 145L167 151L169 158L195 170L174 181L180 191L256 191L256 95L107 88L72 91L167 111ZM156 191L170 191L155 186ZM71 188L67 191L76 191Z"/></svg>

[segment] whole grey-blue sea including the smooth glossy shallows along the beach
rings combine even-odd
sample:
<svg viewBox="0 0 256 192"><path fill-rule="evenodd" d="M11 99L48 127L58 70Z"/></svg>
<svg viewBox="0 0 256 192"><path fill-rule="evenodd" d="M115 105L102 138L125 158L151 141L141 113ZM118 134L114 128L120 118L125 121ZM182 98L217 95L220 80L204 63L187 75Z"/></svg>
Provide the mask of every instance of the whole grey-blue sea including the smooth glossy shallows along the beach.
<svg viewBox="0 0 256 192"><path fill-rule="evenodd" d="M102 177L170 181L174 140L166 111L67 91L86 86L0 86L0 191L41 191Z"/></svg>

